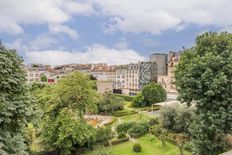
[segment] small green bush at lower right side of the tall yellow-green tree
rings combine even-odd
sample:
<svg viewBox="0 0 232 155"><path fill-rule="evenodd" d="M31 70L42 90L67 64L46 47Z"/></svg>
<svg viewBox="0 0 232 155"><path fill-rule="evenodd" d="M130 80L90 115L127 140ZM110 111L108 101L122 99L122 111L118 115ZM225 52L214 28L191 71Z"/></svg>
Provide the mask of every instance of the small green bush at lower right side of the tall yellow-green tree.
<svg viewBox="0 0 232 155"><path fill-rule="evenodd" d="M113 132L110 127L98 128L95 134L96 143L108 144L108 141L113 137Z"/></svg>

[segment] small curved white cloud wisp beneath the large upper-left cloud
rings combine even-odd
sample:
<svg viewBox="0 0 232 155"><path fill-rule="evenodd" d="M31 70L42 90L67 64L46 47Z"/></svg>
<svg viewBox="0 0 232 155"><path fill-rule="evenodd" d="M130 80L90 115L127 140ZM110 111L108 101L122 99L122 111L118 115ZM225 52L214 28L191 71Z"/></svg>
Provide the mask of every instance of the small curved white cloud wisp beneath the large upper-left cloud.
<svg viewBox="0 0 232 155"><path fill-rule="evenodd" d="M66 25L49 25L49 30L52 33L64 33L67 34L70 38L72 39L77 39L78 38L78 34L74 29L71 29L70 27L66 26Z"/></svg>

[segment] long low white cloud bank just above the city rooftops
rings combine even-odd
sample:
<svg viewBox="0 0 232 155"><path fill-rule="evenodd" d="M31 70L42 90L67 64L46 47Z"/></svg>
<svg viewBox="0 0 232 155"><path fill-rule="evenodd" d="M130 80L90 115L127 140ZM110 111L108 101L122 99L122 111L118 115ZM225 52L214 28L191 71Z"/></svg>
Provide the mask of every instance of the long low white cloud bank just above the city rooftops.
<svg viewBox="0 0 232 155"><path fill-rule="evenodd" d="M62 51L46 50L26 52L27 61L60 65L68 63L108 63L127 64L130 62L143 61L145 58L131 49L117 50L102 45L88 47L86 51Z"/></svg>

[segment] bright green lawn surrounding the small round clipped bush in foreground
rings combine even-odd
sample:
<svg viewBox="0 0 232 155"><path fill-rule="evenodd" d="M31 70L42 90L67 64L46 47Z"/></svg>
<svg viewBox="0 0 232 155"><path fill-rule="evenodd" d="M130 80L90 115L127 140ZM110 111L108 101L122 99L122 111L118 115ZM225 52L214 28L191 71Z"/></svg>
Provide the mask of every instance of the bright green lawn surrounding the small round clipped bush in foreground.
<svg viewBox="0 0 232 155"><path fill-rule="evenodd" d="M142 146L142 152L136 153L132 151L133 144L135 142L140 143ZM170 143L166 143L163 147L161 142L151 134L147 134L135 142L125 142L118 145L107 147L113 155L179 155L179 149ZM96 155L96 151L88 152L83 155ZM184 155L191 155L189 152L185 152Z"/></svg>

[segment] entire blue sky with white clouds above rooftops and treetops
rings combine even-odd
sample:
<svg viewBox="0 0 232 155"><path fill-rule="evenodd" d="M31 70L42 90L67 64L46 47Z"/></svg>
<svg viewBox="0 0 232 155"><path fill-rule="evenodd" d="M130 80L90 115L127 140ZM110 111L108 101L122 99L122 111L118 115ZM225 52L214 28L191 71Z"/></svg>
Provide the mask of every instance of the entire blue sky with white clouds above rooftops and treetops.
<svg viewBox="0 0 232 155"><path fill-rule="evenodd" d="M25 63L126 64L232 30L231 0L0 0L0 39Z"/></svg>

